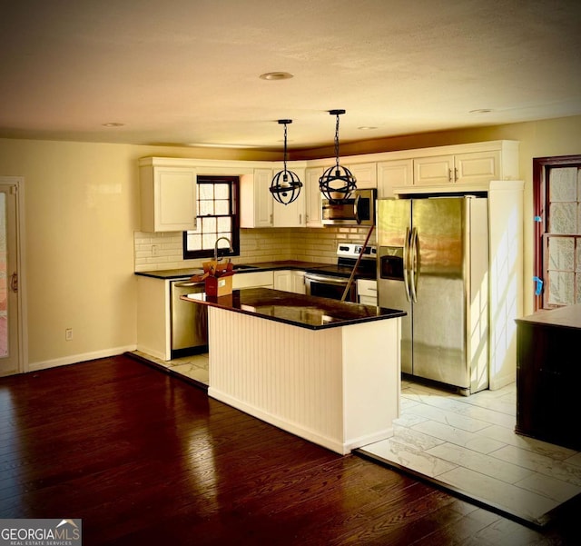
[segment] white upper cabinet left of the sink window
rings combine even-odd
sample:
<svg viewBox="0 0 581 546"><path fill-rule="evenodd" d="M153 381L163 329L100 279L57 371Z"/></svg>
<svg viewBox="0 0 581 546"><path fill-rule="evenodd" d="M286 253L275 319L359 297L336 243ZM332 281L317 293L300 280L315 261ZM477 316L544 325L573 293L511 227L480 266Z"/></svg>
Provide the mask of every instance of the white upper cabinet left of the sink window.
<svg viewBox="0 0 581 546"><path fill-rule="evenodd" d="M196 168L164 158L140 160L141 229L145 233L196 228Z"/></svg>

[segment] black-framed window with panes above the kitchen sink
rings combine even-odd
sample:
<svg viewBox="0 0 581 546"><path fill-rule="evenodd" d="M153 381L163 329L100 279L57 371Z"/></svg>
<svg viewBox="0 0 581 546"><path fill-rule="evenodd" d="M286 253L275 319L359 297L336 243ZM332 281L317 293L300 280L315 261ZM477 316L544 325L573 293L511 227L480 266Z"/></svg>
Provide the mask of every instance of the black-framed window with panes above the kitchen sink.
<svg viewBox="0 0 581 546"><path fill-rule="evenodd" d="M184 260L213 256L219 237L228 237L234 251L221 241L219 255L240 254L238 189L237 176L198 176L198 222L195 231L183 232Z"/></svg>

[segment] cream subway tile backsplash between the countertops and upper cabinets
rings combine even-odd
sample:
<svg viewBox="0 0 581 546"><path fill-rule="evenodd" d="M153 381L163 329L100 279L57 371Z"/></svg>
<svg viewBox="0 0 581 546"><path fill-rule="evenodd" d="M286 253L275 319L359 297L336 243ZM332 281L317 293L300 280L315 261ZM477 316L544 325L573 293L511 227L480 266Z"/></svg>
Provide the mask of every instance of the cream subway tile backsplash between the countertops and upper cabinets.
<svg viewBox="0 0 581 546"><path fill-rule="evenodd" d="M341 241L363 243L368 228L264 228L241 229L240 256L234 263L260 263L279 260L334 263ZM202 267L204 260L183 260L182 232L133 235L134 271L156 271ZM371 233L370 244L375 244Z"/></svg>

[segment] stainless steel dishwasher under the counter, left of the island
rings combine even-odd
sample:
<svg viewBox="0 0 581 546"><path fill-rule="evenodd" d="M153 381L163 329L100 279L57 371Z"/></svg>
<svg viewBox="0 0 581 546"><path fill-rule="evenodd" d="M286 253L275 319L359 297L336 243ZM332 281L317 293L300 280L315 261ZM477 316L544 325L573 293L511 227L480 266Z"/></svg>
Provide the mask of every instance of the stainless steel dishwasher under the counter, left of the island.
<svg viewBox="0 0 581 546"><path fill-rule="evenodd" d="M208 310L180 296L204 291L204 283L184 279L171 281L172 359L208 350Z"/></svg>

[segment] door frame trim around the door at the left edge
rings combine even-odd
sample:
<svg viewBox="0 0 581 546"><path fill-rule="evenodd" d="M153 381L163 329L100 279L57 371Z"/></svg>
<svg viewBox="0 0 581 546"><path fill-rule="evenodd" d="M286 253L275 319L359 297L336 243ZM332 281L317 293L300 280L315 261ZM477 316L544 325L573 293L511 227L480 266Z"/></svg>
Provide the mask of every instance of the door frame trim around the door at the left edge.
<svg viewBox="0 0 581 546"><path fill-rule="evenodd" d="M25 177L0 176L0 184L16 188L16 273L18 274L17 329L18 329L18 373L29 371L28 367L28 314L26 305L25 264ZM6 275L8 272L6 272Z"/></svg>

